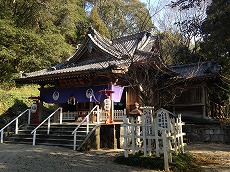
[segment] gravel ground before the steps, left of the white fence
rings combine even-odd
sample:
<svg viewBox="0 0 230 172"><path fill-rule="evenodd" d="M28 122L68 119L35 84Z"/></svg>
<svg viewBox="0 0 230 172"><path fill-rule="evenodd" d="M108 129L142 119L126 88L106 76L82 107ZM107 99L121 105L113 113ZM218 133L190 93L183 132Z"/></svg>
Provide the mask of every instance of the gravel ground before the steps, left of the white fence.
<svg viewBox="0 0 230 172"><path fill-rule="evenodd" d="M122 150L78 152L42 145L0 144L0 172L153 172L113 162Z"/></svg>

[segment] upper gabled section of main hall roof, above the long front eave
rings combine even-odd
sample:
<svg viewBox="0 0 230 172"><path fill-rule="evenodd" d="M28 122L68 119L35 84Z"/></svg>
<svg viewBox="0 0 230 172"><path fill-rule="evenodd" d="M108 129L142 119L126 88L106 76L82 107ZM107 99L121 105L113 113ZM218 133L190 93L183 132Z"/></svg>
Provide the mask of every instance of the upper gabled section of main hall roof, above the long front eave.
<svg viewBox="0 0 230 172"><path fill-rule="evenodd" d="M127 56L133 57L135 55L135 51L137 50L150 52L156 39L157 36L153 35L152 31L143 31L133 35L108 40L100 35L96 30L90 28L86 41L79 49L79 52L76 52L75 55L68 59L68 62L66 62L63 67L76 62L79 58L80 52L83 51L84 48L87 48L89 44L114 59L122 59Z"/></svg>

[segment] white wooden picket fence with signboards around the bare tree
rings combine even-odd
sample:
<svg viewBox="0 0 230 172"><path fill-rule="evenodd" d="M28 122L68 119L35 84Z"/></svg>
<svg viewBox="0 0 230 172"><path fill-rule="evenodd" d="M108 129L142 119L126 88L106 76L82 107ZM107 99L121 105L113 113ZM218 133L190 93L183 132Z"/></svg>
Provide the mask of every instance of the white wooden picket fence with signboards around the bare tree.
<svg viewBox="0 0 230 172"><path fill-rule="evenodd" d="M169 171L172 153L184 153L181 115L175 117L171 112L160 109L155 114L153 108L143 108L143 115L123 118L124 152L128 157L131 152L142 151L144 156L155 153L157 157L164 154L165 171Z"/></svg>

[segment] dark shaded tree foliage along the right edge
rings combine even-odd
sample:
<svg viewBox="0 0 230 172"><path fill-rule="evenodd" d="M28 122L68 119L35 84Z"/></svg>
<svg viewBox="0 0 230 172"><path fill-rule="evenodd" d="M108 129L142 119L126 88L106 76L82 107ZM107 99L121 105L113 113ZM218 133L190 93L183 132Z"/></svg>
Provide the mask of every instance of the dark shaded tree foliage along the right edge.
<svg viewBox="0 0 230 172"><path fill-rule="evenodd" d="M221 65L221 83L209 90L212 101L230 104L230 4L228 0L213 0L207 8L207 18L202 24L201 54L205 60L214 59ZM213 85L211 83L210 85ZM229 114L226 114L229 116Z"/></svg>

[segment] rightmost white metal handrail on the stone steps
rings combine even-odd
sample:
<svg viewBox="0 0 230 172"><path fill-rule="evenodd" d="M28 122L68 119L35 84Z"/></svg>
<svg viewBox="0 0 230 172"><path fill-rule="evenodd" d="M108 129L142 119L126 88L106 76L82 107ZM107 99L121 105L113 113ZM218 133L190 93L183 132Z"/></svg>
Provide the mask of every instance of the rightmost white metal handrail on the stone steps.
<svg viewBox="0 0 230 172"><path fill-rule="evenodd" d="M76 141L77 141L77 130L80 128L80 126L86 121L86 133L88 134L89 133L89 116L91 114L93 114L93 112L95 112L95 109L96 112L97 112L97 123L99 124L99 105L96 105L89 113L88 115L81 121L81 123L75 128L75 130L72 132L72 134L74 134L74 146L73 146L73 149L76 150Z"/></svg>

